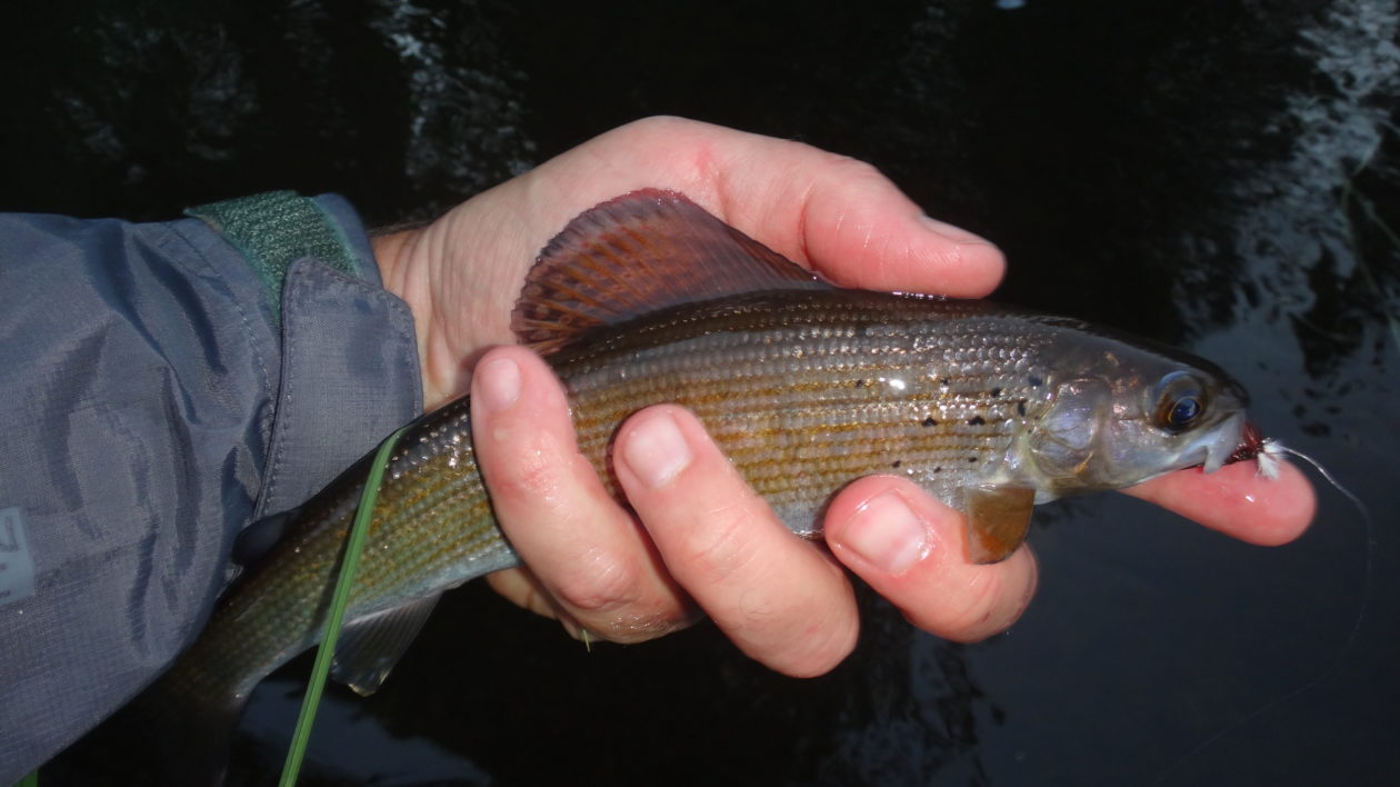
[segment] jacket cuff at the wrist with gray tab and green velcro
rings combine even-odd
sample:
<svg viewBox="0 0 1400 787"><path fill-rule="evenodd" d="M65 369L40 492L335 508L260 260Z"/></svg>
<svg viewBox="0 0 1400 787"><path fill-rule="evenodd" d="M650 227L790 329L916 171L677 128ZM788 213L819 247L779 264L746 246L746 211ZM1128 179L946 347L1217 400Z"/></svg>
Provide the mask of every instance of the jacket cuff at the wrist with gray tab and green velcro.
<svg viewBox="0 0 1400 787"><path fill-rule="evenodd" d="M256 195L190 209L267 295L281 372L253 521L294 508L423 409L409 305L384 290L368 235L335 195Z"/></svg>

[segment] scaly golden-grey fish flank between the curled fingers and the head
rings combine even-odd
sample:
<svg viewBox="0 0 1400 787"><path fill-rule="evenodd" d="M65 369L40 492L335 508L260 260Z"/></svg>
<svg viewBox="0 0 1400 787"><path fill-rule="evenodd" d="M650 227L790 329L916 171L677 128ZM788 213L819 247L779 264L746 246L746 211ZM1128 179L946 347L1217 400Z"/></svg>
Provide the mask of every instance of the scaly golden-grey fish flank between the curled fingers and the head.
<svg viewBox="0 0 1400 787"><path fill-rule="evenodd" d="M1012 420L1008 406L1030 401L1025 358L1036 340L1025 318L986 311L897 295L767 293L652 315L566 350L556 368L575 405L580 448L601 471L613 429L637 402L679 403L794 532L815 535L833 490L889 472L895 458L904 475L960 504L962 489L988 475L969 459L1005 452L1035 417ZM949 347L959 340L972 347ZM928 417L937 423L925 426Z"/></svg>

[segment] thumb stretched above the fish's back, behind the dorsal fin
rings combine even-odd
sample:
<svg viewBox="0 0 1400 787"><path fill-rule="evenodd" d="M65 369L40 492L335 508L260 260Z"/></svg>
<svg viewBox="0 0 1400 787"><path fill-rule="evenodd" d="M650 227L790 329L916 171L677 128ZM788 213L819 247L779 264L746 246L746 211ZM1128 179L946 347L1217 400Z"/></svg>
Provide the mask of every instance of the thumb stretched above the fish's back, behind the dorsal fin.
<svg viewBox="0 0 1400 787"><path fill-rule="evenodd" d="M847 287L980 297L1005 272L997 246L928 218L869 164L708 123L647 118L531 176L577 200L556 209L554 231L598 202L669 188Z"/></svg>

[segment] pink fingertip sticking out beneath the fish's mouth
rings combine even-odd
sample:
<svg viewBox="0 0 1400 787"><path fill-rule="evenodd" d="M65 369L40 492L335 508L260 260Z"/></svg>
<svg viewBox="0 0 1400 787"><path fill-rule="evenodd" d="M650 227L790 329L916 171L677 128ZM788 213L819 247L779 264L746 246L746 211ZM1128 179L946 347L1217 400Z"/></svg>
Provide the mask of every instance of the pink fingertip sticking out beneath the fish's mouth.
<svg viewBox="0 0 1400 787"><path fill-rule="evenodd" d="M1317 510L1308 478L1288 462L1278 471L1267 479L1254 462L1236 462L1214 473L1177 471L1123 492L1240 541L1278 546L1301 536Z"/></svg>

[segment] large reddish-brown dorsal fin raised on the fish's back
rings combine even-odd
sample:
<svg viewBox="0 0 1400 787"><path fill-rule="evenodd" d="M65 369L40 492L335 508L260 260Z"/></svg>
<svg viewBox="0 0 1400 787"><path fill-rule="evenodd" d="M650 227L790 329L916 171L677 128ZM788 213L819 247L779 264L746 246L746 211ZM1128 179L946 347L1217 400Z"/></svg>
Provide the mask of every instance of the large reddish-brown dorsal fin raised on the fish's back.
<svg viewBox="0 0 1400 787"><path fill-rule="evenodd" d="M589 328L773 288L829 288L678 192L643 189L568 223L539 253L511 328L539 353Z"/></svg>

